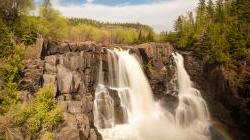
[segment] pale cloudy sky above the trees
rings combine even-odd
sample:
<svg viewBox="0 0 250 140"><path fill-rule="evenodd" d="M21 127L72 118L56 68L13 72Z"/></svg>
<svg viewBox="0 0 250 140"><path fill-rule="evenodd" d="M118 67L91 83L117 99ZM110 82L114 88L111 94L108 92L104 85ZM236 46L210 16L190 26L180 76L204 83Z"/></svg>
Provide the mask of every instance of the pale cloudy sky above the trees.
<svg viewBox="0 0 250 140"><path fill-rule="evenodd" d="M39 0L37 0L39 1ZM174 21L194 11L198 0L52 0L66 17L150 25L156 32L173 30Z"/></svg>

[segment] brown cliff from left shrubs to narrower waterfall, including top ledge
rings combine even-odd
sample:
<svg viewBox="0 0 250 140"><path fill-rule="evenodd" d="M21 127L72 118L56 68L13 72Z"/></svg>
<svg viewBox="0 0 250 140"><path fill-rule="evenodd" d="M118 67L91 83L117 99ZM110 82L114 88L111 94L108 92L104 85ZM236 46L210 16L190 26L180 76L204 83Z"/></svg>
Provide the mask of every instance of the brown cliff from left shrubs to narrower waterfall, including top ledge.
<svg viewBox="0 0 250 140"><path fill-rule="evenodd" d="M93 101L100 60L107 75L107 49L130 49L137 54L142 64L153 93L157 99L169 90L166 82L173 47L168 43L145 43L131 46L103 46L92 42L83 43L40 43L41 55L36 59L25 60L25 69L19 89L24 91L24 101L32 98L39 87L54 84L54 97L63 108L63 122L56 128L57 140L101 140L102 137L94 126ZM173 70L172 70L173 71ZM105 80L105 79L104 79ZM107 80L107 79L106 79ZM174 91L173 91L174 92ZM112 98L119 101L114 94ZM169 98L166 98L169 100ZM171 101L175 101L173 96ZM175 104L176 105L176 104ZM172 105L173 106L173 105ZM115 106L116 121L123 123L121 106Z"/></svg>

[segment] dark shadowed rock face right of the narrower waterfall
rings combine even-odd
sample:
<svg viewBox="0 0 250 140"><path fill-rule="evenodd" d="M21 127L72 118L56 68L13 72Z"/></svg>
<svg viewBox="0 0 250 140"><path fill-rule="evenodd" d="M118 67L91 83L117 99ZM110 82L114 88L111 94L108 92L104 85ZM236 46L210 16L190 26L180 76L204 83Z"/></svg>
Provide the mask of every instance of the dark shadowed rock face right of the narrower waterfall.
<svg viewBox="0 0 250 140"><path fill-rule="evenodd" d="M185 67L196 88L208 103L211 117L234 139L247 140L250 137L250 108L247 90L242 93L233 84L223 66L205 64L202 57L194 52L180 52L185 59Z"/></svg>

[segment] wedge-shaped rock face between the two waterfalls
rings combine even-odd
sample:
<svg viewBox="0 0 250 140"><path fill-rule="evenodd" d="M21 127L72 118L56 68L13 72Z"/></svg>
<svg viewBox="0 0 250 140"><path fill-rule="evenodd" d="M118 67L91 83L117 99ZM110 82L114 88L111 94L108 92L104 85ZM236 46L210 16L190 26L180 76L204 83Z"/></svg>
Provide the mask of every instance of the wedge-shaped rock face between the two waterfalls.
<svg viewBox="0 0 250 140"><path fill-rule="evenodd" d="M174 49L169 44L141 44L139 56L148 76L155 100L171 112L178 105L176 67L172 58Z"/></svg>

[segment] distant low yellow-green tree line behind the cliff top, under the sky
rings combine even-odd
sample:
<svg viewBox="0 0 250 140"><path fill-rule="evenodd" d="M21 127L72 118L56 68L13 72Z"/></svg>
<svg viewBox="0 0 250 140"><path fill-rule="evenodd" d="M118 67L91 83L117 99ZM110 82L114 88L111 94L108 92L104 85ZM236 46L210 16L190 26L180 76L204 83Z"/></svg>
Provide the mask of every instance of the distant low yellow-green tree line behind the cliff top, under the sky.
<svg viewBox="0 0 250 140"><path fill-rule="evenodd" d="M133 23L102 23L95 20L69 19L69 41L134 44L154 40L153 30L146 25Z"/></svg>

